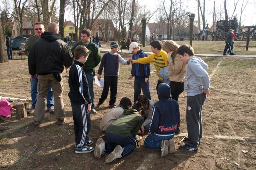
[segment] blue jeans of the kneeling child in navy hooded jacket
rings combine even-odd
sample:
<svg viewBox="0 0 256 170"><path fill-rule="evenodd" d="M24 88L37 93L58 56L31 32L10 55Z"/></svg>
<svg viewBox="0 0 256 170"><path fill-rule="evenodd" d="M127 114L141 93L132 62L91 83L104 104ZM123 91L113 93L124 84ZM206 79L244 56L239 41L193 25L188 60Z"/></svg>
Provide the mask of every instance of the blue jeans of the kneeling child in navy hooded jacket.
<svg viewBox="0 0 256 170"><path fill-rule="evenodd" d="M168 136L159 136L153 133L147 136L147 138L144 141L144 145L145 147L148 147L148 148L161 149L159 147L159 143L161 141L173 139L173 137L174 137L174 134L168 135Z"/></svg>

